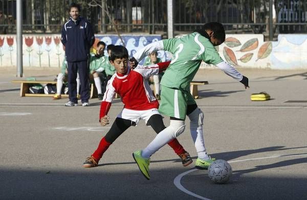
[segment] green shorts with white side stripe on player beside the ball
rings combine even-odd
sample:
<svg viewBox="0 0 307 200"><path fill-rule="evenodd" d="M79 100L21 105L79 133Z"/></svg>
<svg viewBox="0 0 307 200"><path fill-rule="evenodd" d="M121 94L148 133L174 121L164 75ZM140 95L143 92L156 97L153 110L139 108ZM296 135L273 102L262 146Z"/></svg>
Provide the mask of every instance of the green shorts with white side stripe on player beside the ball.
<svg viewBox="0 0 307 200"><path fill-rule="evenodd" d="M177 90L161 85L159 112L169 117L185 120L187 105L196 104L189 91Z"/></svg>

